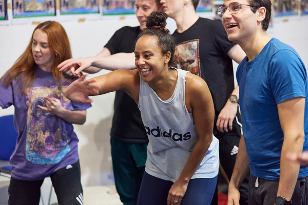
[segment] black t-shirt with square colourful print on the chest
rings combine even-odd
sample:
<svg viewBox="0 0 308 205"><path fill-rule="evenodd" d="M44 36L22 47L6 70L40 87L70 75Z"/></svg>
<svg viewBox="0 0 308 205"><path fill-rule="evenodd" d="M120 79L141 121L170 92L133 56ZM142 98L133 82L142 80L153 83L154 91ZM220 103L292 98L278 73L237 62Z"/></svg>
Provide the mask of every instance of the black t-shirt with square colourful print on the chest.
<svg viewBox="0 0 308 205"><path fill-rule="evenodd" d="M215 126L217 117L234 90L232 59L228 51L236 45L228 40L221 20L200 17L183 33L175 31L175 64L202 77L214 101Z"/></svg>

